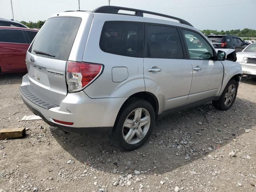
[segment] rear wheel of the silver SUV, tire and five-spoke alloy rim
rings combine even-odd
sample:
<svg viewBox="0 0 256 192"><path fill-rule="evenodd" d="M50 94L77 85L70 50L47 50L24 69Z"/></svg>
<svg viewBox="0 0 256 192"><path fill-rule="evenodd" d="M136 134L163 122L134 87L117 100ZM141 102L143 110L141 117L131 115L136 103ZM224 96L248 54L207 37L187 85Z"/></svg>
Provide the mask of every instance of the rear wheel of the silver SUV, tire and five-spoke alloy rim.
<svg viewBox="0 0 256 192"><path fill-rule="evenodd" d="M140 118L138 114L141 114ZM110 139L122 150L135 150L148 140L155 117L154 108L149 102L131 98L120 109Z"/></svg>

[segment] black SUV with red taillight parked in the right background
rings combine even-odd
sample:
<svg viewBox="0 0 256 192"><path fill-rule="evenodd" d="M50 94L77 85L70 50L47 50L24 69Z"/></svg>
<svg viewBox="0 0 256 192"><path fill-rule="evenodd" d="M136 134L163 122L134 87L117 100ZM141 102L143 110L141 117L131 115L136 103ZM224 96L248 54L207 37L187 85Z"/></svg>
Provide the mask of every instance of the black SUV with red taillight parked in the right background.
<svg viewBox="0 0 256 192"><path fill-rule="evenodd" d="M234 35L208 35L207 36L214 48L235 49L236 52L246 48L246 44Z"/></svg>

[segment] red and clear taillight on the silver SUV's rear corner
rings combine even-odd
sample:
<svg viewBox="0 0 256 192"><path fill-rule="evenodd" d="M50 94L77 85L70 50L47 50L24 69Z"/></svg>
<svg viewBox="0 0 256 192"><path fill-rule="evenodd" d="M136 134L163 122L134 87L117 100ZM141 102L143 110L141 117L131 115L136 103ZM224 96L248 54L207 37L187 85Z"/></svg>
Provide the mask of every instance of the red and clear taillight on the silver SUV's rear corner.
<svg viewBox="0 0 256 192"><path fill-rule="evenodd" d="M68 61L66 81L69 92L76 92L88 86L102 71L102 65Z"/></svg>

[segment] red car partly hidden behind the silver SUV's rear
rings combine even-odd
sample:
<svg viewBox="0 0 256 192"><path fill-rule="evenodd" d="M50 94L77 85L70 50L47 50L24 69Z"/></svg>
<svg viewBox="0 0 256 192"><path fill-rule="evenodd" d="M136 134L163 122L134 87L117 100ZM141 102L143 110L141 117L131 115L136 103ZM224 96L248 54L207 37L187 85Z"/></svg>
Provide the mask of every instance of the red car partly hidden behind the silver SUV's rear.
<svg viewBox="0 0 256 192"><path fill-rule="evenodd" d="M27 72L26 52L38 30L0 26L0 74Z"/></svg>

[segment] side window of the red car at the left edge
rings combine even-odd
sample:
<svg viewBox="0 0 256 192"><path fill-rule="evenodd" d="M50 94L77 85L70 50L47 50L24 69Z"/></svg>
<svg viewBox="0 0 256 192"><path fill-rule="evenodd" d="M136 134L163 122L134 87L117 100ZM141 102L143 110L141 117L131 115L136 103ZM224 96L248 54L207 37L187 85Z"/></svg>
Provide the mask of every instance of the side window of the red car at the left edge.
<svg viewBox="0 0 256 192"><path fill-rule="evenodd" d="M0 42L27 43L23 36L22 30L13 29L1 29Z"/></svg>

